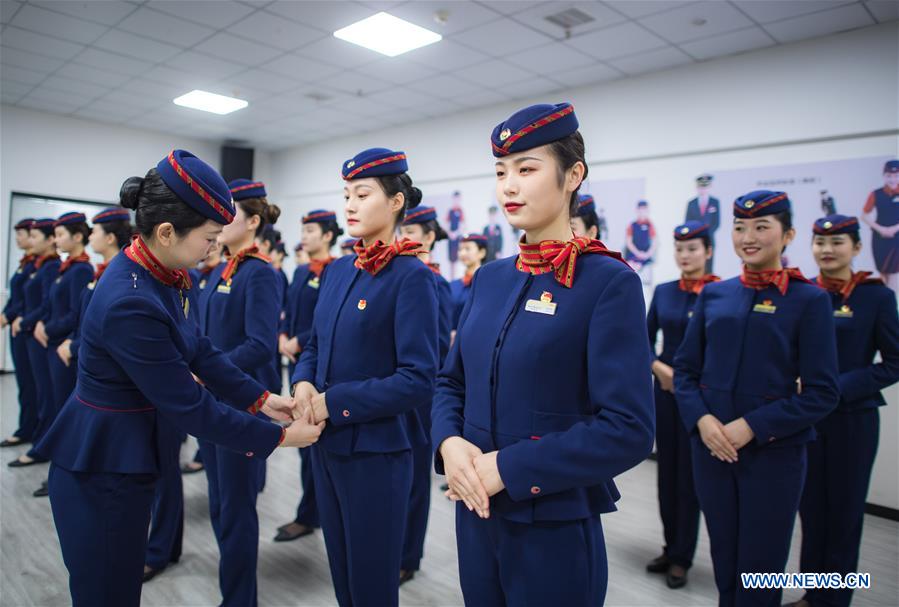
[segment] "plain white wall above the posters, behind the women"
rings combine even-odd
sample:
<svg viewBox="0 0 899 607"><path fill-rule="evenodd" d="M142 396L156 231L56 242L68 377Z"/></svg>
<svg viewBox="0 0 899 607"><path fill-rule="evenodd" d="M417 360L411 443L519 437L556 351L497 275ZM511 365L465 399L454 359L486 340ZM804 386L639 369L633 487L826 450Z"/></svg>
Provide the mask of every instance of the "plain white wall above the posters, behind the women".
<svg viewBox="0 0 899 607"><path fill-rule="evenodd" d="M488 137L500 120L531 102L569 100L591 179L645 178L654 220L675 225L694 195L692 177L704 171L899 156L897 64L899 25L884 24L285 150L274 155L269 189L284 210L280 228L295 242L304 212L339 211L339 169L356 152L405 150L425 195L444 193L490 178ZM480 226L486 215L467 219ZM656 282L677 275L668 240L661 239ZM869 501L899 508L899 387L886 397Z"/></svg>

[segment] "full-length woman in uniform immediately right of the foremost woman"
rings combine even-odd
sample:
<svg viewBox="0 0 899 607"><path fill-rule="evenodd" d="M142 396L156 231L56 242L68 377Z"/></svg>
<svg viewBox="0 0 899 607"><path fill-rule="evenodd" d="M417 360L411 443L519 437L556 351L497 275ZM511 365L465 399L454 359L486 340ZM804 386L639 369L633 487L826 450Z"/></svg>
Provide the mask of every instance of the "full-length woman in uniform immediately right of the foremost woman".
<svg viewBox="0 0 899 607"><path fill-rule="evenodd" d="M679 280L656 287L646 316L649 347L656 351L656 338L662 331L662 353L652 362L655 376L656 448L658 450L659 513L665 535L662 555L646 569L666 574L669 588L687 583L687 570L693 564L699 535L699 502L693 488L690 435L680 421L674 399L674 353L687 330L693 306L703 287L720 280L705 274L712 257L709 227L688 221L674 230L674 258L681 271Z"/></svg>

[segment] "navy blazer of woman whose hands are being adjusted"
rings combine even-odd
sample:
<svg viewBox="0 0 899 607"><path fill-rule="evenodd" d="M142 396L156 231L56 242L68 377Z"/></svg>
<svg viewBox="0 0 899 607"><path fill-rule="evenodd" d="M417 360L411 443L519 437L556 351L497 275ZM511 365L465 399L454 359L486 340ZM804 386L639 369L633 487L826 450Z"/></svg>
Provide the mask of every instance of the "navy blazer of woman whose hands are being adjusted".
<svg viewBox="0 0 899 607"><path fill-rule="evenodd" d="M403 451L426 443L416 409L430 404L437 373L434 273L414 256L398 256L372 276L355 259L328 266L291 384L308 381L326 394L321 448Z"/></svg>

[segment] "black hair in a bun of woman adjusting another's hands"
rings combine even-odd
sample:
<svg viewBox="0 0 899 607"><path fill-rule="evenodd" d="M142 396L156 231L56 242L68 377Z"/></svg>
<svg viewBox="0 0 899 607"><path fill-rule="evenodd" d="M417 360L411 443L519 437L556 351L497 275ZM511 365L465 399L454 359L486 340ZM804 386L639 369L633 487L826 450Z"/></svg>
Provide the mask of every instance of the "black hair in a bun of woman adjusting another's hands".
<svg viewBox="0 0 899 607"><path fill-rule="evenodd" d="M126 209L136 211L134 223L142 236L152 236L162 223L172 224L179 237L206 223L206 217L178 198L156 169L150 169L143 178L126 179L119 200Z"/></svg>

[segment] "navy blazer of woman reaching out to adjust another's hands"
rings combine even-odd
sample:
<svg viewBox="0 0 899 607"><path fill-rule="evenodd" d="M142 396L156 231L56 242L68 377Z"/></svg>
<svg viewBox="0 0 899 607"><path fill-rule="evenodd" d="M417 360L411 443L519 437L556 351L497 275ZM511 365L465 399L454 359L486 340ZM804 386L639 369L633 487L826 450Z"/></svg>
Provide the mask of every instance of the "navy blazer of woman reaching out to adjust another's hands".
<svg viewBox="0 0 899 607"><path fill-rule="evenodd" d="M191 307L196 300L188 294ZM157 473L157 415L184 432L267 457L280 426L248 414L265 388L185 317L176 289L117 255L82 320L78 380L35 451L75 472ZM233 407L216 401L191 372Z"/></svg>

